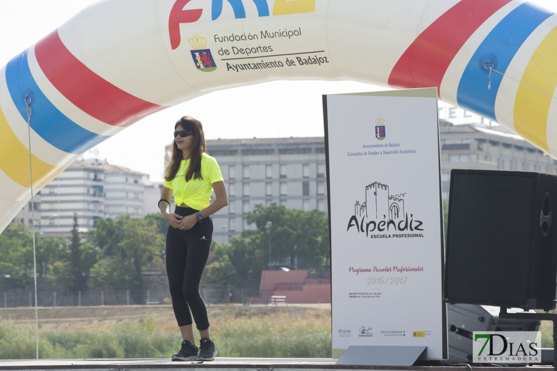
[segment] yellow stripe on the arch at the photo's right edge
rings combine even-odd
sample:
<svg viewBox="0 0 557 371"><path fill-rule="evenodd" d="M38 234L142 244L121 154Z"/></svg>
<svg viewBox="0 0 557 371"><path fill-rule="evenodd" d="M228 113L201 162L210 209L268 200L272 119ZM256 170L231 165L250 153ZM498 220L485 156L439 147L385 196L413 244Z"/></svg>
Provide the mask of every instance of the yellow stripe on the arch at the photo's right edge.
<svg viewBox="0 0 557 371"><path fill-rule="evenodd" d="M549 153L547 123L557 86L557 27L536 48L520 82L513 112L515 130Z"/></svg>

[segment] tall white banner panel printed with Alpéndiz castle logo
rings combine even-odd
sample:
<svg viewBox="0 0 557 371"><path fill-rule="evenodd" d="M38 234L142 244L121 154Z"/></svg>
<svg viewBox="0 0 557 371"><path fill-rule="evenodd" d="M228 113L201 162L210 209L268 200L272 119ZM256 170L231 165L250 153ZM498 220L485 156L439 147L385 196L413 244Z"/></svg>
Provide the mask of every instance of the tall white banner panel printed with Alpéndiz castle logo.
<svg viewBox="0 0 557 371"><path fill-rule="evenodd" d="M323 103L333 358L417 345L447 359L437 88Z"/></svg>

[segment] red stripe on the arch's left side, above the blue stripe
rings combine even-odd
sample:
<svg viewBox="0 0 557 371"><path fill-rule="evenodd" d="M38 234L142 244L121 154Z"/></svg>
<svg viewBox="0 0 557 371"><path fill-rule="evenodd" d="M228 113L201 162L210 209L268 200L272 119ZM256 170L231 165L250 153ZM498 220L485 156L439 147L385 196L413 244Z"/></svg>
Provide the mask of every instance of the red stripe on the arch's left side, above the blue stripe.
<svg viewBox="0 0 557 371"><path fill-rule="evenodd" d="M167 108L126 93L91 71L67 50L57 30L36 44L35 55L52 85L97 120L114 126L129 126Z"/></svg>

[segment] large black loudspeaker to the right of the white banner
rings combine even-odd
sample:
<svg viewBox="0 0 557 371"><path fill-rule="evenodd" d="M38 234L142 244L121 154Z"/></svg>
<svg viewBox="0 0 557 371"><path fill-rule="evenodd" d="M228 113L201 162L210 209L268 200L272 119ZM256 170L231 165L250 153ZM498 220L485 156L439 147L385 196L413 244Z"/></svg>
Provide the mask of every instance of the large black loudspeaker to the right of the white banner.
<svg viewBox="0 0 557 371"><path fill-rule="evenodd" d="M553 205L557 205L555 175L452 170L444 299L555 309Z"/></svg>

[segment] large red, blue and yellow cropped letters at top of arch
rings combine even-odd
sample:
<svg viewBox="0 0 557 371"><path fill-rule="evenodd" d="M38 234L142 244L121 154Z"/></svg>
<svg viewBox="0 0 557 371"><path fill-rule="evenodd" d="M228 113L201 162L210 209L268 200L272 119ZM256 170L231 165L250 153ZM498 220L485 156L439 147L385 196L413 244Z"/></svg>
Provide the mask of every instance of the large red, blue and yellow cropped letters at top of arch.
<svg viewBox="0 0 557 371"><path fill-rule="evenodd" d="M180 46L180 24L197 22L201 18L203 9L184 9L191 0L177 0L168 17L168 33L170 36L170 47L172 50ZM246 1L246 0L243 0ZM255 3L258 17L270 16L267 0L249 0ZM221 16L223 0L213 0L205 2L206 7L211 6L211 19L214 21ZM246 10L242 0L228 0L232 7L234 18L246 18ZM273 16L283 16L286 14L311 13L315 12L315 0L275 0L272 8Z"/></svg>

